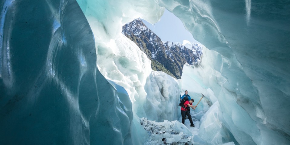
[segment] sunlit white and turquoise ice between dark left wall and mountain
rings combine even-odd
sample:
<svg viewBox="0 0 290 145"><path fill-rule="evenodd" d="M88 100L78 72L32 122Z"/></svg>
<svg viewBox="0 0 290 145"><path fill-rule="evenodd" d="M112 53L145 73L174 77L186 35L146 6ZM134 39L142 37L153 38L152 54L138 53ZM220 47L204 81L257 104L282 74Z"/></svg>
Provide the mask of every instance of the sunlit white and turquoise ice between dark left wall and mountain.
<svg viewBox="0 0 290 145"><path fill-rule="evenodd" d="M150 60L121 32L136 18L157 22L164 8L150 1L77 0L94 33L97 65L105 78L123 86L133 103L135 120L177 120L179 88L165 73L152 71ZM140 124L140 123L139 123Z"/></svg>

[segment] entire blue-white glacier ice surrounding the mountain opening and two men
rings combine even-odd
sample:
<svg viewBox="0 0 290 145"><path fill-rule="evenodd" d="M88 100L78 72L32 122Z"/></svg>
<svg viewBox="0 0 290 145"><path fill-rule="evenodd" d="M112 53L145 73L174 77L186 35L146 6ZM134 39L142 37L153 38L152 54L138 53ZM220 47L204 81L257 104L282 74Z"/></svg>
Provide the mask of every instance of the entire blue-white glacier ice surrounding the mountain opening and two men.
<svg viewBox="0 0 290 145"><path fill-rule="evenodd" d="M0 144L143 144L140 118L178 120L184 90L194 103L206 96L191 143L290 144L289 0L0 6ZM121 33L133 19L158 22L165 8L204 45L179 80L152 71Z"/></svg>

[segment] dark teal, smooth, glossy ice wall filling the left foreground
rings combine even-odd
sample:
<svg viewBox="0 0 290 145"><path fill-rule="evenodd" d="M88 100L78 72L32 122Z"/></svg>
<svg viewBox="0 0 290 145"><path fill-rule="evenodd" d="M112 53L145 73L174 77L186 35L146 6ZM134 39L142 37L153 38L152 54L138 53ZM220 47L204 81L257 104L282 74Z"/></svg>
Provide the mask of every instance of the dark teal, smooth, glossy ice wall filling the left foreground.
<svg viewBox="0 0 290 145"><path fill-rule="evenodd" d="M0 144L142 142L126 90L97 69L76 1L4 0L0 10Z"/></svg>

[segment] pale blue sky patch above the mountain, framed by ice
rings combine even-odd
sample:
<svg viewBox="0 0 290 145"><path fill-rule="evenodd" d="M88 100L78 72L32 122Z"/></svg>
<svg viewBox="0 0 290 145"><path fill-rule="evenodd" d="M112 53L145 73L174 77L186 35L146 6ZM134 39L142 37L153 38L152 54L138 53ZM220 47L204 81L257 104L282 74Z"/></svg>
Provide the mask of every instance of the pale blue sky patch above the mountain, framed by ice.
<svg viewBox="0 0 290 145"><path fill-rule="evenodd" d="M197 43L191 33L184 28L181 20L166 9L160 21L154 25L143 19L142 21L150 30L155 32L162 41L183 43L184 40L187 40L189 42Z"/></svg>

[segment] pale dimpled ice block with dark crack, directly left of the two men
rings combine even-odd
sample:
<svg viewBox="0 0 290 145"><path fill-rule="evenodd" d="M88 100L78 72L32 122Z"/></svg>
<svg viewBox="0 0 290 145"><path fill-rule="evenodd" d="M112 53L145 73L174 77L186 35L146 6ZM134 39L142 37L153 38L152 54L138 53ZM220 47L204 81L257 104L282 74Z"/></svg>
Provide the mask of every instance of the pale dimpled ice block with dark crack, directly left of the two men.
<svg viewBox="0 0 290 145"><path fill-rule="evenodd" d="M147 78L146 103L144 110L147 119L163 122L177 120L180 117L178 83L165 72L152 71Z"/></svg>

